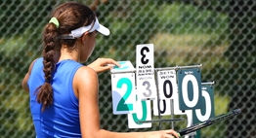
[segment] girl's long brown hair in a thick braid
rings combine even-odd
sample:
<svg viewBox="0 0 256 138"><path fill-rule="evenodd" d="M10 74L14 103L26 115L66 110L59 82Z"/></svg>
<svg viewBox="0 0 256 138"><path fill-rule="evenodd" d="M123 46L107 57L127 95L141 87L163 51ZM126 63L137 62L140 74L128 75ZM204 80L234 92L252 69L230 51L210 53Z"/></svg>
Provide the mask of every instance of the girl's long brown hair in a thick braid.
<svg viewBox="0 0 256 138"><path fill-rule="evenodd" d="M69 34L71 30L86 26L95 20L93 11L82 4L68 2L57 7L52 17L56 17L60 23L59 27L54 23L48 23L43 32L43 72L45 83L36 89L37 102L43 104L42 111L53 104L52 79L55 71L54 55L60 52L62 45L73 48L76 39L58 39L58 36Z"/></svg>

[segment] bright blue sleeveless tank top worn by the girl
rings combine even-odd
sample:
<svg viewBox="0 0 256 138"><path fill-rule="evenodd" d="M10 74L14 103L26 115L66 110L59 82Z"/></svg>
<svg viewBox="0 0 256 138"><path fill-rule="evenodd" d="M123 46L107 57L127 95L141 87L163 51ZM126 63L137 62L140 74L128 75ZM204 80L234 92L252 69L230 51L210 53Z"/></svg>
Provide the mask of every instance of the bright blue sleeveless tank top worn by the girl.
<svg viewBox="0 0 256 138"><path fill-rule="evenodd" d="M38 58L27 81L30 96L30 111L37 138L81 137L78 99L74 95L72 81L82 64L74 60L63 60L56 64L53 75L54 102L41 112L42 105L36 101L35 90L45 82L43 58Z"/></svg>

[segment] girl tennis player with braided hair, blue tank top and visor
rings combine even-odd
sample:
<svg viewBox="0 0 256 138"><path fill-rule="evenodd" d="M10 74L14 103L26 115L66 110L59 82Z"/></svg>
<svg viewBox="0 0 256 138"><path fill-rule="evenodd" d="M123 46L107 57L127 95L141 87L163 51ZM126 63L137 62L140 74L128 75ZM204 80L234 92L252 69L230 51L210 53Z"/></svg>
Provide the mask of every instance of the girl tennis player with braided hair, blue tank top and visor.
<svg viewBox="0 0 256 138"><path fill-rule="evenodd" d="M44 28L42 57L29 66L22 87L29 92L30 111L37 138L172 138L176 131L111 132L100 127L98 74L119 64L100 58L88 66L98 33L107 27L91 9L64 3Z"/></svg>

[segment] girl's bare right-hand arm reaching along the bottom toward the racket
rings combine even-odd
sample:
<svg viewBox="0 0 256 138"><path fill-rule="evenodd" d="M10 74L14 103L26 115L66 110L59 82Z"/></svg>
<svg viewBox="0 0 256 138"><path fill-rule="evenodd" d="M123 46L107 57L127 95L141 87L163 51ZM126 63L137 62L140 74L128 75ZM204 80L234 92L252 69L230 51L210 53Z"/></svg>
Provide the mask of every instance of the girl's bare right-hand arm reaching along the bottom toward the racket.
<svg viewBox="0 0 256 138"><path fill-rule="evenodd" d="M73 88L79 99L79 116L83 138L173 138L174 130L149 132L111 132L100 127L98 75L90 67L79 68L74 76ZM171 135L172 134L172 135Z"/></svg>

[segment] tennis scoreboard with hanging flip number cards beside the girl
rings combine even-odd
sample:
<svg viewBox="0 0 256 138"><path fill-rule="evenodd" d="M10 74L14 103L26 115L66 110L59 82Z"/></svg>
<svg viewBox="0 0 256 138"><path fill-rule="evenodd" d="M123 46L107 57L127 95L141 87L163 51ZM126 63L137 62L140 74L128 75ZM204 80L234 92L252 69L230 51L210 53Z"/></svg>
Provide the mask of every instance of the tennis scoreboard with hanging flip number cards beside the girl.
<svg viewBox="0 0 256 138"><path fill-rule="evenodd" d="M127 114L129 128L151 127L152 116L186 115L187 126L215 116L214 82L201 82L201 64L154 68L153 57L152 44L137 45L136 68L124 60L110 70L114 115Z"/></svg>

